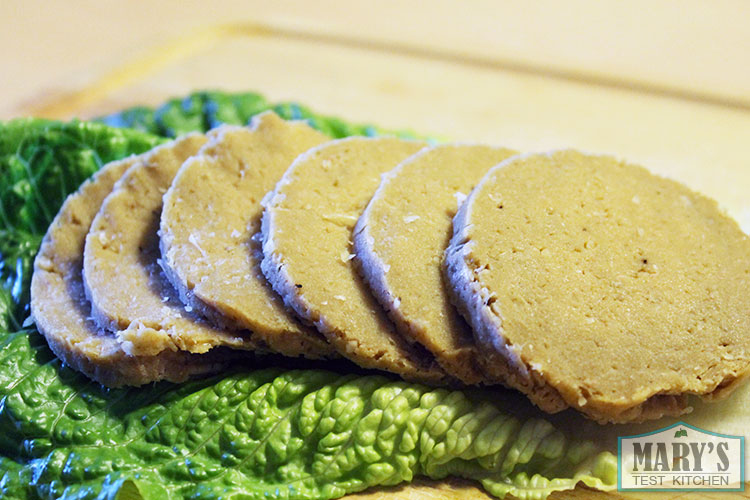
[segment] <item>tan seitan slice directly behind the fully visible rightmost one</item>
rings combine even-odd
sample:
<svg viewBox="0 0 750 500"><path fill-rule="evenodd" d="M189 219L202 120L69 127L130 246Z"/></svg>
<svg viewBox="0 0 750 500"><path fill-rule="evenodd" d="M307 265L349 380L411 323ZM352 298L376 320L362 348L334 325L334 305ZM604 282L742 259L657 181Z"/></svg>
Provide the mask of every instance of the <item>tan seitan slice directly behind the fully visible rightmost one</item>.
<svg viewBox="0 0 750 500"><path fill-rule="evenodd" d="M480 367L471 327L450 303L443 253L459 202L491 167L514 154L460 144L423 150L383 176L354 230L363 276L399 331L467 384L497 377Z"/></svg>

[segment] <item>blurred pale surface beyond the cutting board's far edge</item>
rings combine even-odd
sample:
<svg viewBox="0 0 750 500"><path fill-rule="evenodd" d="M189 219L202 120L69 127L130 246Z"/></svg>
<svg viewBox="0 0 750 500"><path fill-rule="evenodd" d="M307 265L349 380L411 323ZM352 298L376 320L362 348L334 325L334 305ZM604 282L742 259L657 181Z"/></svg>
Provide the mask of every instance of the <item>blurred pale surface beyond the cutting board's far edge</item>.
<svg viewBox="0 0 750 500"><path fill-rule="evenodd" d="M5 0L0 117L225 23L416 47L748 109L747 19L744 0Z"/></svg>

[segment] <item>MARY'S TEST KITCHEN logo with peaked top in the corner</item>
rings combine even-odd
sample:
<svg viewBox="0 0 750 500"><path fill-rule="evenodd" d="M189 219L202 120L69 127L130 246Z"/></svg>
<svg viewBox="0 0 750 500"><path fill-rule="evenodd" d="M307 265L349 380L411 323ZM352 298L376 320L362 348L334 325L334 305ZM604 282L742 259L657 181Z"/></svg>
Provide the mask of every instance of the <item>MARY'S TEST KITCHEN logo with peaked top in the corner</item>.
<svg viewBox="0 0 750 500"><path fill-rule="evenodd" d="M677 423L618 438L620 491L744 491L745 438Z"/></svg>

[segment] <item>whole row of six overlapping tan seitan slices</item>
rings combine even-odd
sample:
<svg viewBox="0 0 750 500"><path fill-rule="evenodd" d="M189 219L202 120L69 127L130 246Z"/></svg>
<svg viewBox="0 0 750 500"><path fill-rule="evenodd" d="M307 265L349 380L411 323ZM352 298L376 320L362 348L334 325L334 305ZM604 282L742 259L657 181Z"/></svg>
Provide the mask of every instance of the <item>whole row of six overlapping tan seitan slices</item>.
<svg viewBox="0 0 750 500"><path fill-rule="evenodd" d="M500 383L600 422L732 391L750 370L736 223L641 167L513 155L328 141L273 113L185 136L69 197L35 263L34 319L109 386L272 352Z"/></svg>

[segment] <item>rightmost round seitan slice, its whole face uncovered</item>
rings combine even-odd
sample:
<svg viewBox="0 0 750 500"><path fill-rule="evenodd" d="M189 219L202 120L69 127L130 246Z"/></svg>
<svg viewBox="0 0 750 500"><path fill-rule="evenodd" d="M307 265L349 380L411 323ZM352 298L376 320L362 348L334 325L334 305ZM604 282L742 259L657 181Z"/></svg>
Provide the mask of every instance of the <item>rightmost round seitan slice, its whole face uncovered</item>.
<svg viewBox="0 0 750 500"><path fill-rule="evenodd" d="M493 168L454 219L447 275L513 385L600 422L687 410L750 367L750 239L646 169L561 151Z"/></svg>

